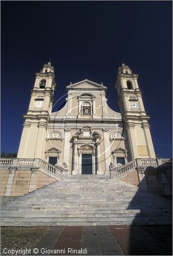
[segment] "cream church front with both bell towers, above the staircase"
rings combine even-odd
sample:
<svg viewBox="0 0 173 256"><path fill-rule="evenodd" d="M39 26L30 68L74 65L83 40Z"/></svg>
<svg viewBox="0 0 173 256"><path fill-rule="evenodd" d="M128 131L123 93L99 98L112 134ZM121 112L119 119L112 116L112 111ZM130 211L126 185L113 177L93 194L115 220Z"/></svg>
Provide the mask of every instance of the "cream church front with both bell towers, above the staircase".
<svg viewBox="0 0 173 256"><path fill-rule="evenodd" d="M66 104L52 112L57 84L49 61L35 74L17 158L42 159L69 175L109 174L111 166L156 158L137 79L121 62L115 83L121 113L107 105L107 88L88 79L67 86Z"/></svg>

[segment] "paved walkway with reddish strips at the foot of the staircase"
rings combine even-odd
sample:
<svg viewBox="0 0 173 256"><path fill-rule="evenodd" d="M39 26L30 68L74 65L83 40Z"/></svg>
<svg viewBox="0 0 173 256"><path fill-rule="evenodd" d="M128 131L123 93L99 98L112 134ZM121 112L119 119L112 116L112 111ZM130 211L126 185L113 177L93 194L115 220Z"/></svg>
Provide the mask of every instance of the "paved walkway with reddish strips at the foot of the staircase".
<svg viewBox="0 0 173 256"><path fill-rule="evenodd" d="M33 255L172 255L140 226L56 226Z"/></svg>

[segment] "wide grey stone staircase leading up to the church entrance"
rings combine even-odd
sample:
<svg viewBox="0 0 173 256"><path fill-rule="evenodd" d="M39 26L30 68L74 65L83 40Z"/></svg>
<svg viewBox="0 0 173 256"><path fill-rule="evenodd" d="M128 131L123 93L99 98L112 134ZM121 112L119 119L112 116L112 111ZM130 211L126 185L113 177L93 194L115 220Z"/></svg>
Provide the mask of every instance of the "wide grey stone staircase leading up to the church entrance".
<svg viewBox="0 0 173 256"><path fill-rule="evenodd" d="M70 175L4 203L1 225L166 225L171 206L109 175Z"/></svg>

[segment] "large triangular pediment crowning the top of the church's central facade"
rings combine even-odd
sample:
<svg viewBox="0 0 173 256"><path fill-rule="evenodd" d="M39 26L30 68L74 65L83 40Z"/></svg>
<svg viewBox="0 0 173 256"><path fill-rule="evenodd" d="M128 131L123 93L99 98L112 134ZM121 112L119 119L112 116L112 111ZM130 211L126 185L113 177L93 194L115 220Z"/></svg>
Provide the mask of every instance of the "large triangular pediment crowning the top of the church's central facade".
<svg viewBox="0 0 173 256"><path fill-rule="evenodd" d="M66 87L66 90L103 90L106 91L107 87L103 86L102 84L90 81L88 79L82 80L80 82L72 83L70 86Z"/></svg>

